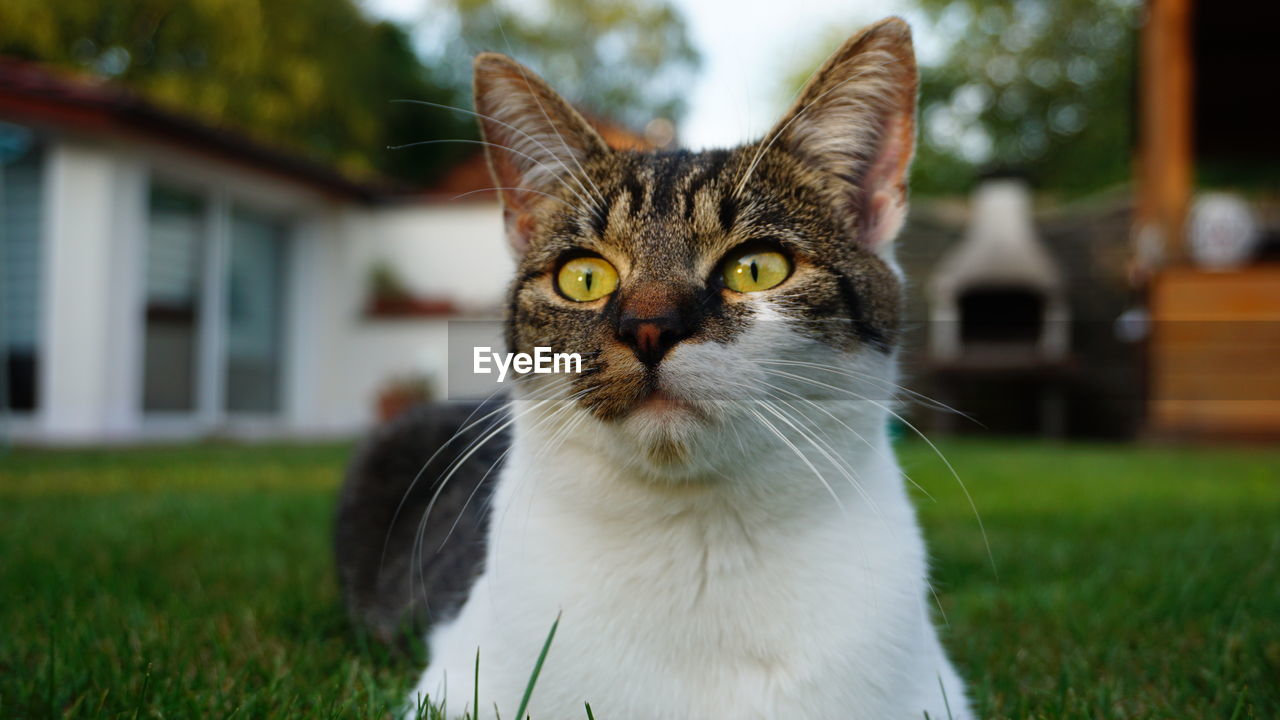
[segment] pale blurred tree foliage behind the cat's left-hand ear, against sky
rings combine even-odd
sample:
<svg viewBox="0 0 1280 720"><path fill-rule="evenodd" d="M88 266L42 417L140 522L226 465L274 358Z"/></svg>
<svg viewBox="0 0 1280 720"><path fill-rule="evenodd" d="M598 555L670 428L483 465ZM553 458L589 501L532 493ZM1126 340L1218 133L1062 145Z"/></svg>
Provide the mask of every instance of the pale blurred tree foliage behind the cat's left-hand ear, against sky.
<svg viewBox="0 0 1280 720"><path fill-rule="evenodd" d="M538 10L502 0L447 0L451 40L431 58L456 82L493 50L529 64L579 106L631 128L678 120L698 69L684 17L667 0L545 0ZM438 22L438 18L431 20Z"/></svg>

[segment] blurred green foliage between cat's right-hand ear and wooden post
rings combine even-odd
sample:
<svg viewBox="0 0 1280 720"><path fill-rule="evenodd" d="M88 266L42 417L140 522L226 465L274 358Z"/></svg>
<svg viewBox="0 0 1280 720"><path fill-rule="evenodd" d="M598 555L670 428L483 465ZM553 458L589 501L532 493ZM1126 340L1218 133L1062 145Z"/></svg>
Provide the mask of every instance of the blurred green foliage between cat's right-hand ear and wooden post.
<svg viewBox="0 0 1280 720"><path fill-rule="evenodd" d="M991 168L1079 196L1130 174L1135 0L916 0L942 44L920 67L911 187L968 192ZM854 28L842 28L835 46ZM822 61L794 76L799 87Z"/></svg>

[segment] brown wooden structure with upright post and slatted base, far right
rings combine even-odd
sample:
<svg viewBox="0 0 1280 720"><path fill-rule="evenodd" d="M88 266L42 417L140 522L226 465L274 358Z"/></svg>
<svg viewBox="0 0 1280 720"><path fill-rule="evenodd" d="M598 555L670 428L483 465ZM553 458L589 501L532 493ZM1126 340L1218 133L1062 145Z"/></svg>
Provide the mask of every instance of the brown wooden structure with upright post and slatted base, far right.
<svg viewBox="0 0 1280 720"><path fill-rule="evenodd" d="M1197 269L1184 231L1196 178L1230 186L1280 163L1261 77L1280 61L1276 19L1274 3L1147 3L1132 277L1149 290L1158 437L1280 437L1280 264Z"/></svg>

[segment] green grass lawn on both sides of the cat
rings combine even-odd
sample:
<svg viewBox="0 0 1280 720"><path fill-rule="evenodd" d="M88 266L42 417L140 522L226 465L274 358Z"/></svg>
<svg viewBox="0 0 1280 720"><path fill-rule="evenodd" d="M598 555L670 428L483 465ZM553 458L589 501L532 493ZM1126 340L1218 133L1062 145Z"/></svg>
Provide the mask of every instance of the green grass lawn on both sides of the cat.
<svg viewBox="0 0 1280 720"><path fill-rule="evenodd" d="M947 442L997 578L902 450L983 717L1280 717L1280 452ZM0 717L385 717L417 667L346 625L347 452L0 455Z"/></svg>

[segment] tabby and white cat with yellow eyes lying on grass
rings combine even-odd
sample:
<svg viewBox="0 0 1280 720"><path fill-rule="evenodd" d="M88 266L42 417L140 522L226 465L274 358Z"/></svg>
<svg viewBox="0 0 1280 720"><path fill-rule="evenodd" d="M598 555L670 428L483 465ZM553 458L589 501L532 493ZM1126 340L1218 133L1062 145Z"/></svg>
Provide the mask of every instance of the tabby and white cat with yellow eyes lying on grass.
<svg viewBox="0 0 1280 720"><path fill-rule="evenodd" d="M586 368L422 410L355 462L348 602L384 635L431 620L410 705L511 716L558 619L535 720L972 717L887 430L908 24L858 32L733 150L611 150L515 60L474 69L507 343Z"/></svg>

